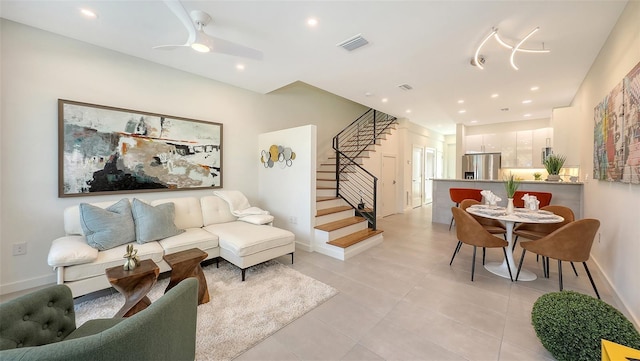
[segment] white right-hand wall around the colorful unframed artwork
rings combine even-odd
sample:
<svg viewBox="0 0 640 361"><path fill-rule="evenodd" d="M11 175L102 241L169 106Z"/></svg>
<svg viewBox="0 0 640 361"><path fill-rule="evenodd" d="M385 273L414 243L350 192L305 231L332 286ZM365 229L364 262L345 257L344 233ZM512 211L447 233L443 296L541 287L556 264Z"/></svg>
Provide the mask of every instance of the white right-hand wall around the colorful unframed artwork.
<svg viewBox="0 0 640 361"><path fill-rule="evenodd" d="M640 325L640 185L596 181L593 173L594 108L640 62L640 2L630 1L578 90L570 109L554 112L554 147L580 149L585 216L599 219L592 258L636 325ZM556 124L563 124L555 129ZM559 131L558 131L559 130Z"/></svg>

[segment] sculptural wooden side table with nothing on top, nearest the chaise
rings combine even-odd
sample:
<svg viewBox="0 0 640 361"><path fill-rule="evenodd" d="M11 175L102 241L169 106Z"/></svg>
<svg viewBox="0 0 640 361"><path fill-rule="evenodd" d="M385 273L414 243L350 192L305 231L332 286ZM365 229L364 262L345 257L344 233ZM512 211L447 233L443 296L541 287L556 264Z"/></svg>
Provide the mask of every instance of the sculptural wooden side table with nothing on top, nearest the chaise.
<svg viewBox="0 0 640 361"><path fill-rule="evenodd" d="M185 278L195 277L198 279L198 304L209 302L209 290L204 272L200 267L200 262L207 258L207 252L198 248L191 248L186 251L164 255L164 260L171 267L171 280L165 293L180 283Z"/></svg>

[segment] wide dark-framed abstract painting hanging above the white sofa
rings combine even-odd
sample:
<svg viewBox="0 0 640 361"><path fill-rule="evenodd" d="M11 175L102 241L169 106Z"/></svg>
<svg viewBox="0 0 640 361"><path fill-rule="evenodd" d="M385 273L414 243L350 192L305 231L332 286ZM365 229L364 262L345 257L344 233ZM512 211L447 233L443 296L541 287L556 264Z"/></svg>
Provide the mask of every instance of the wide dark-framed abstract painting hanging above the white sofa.
<svg viewBox="0 0 640 361"><path fill-rule="evenodd" d="M222 187L222 124L58 100L59 197Z"/></svg>

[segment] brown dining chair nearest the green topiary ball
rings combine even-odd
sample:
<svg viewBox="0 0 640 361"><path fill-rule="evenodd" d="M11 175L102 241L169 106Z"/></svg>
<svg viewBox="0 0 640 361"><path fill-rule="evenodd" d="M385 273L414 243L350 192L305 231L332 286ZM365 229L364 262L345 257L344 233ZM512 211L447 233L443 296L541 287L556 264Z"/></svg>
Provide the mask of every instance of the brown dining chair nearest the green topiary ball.
<svg viewBox="0 0 640 361"><path fill-rule="evenodd" d="M591 286L593 286L596 296L600 298L596 284L591 277L591 272L589 272L589 268L587 267L591 245L598 232L598 228L600 228L599 220L580 219L565 224L551 234L535 241L520 242L522 256L520 256L516 281L520 275L520 269L522 269L524 255L527 251L531 251L542 257L558 260L558 282L560 284L560 291L562 291L562 261L582 262L584 270L587 272L587 276L589 276L589 281L591 281Z"/></svg>

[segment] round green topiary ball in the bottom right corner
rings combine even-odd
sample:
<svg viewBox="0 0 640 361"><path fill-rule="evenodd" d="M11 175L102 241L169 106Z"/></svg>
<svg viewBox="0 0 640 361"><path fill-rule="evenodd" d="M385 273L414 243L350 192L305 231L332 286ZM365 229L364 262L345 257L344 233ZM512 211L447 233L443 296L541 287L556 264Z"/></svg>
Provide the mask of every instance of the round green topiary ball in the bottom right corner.
<svg viewBox="0 0 640 361"><path fill-rule="evenodd" d="M640 334L607 303L572 291L548 293L533 304L531 321L542 345L559 361L601 358L601 339L640 349Z"/></svg>

